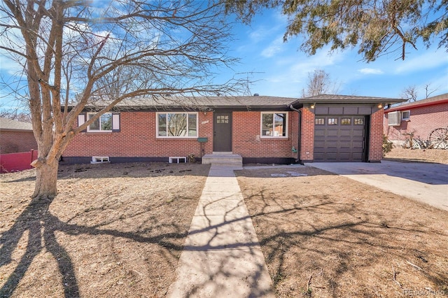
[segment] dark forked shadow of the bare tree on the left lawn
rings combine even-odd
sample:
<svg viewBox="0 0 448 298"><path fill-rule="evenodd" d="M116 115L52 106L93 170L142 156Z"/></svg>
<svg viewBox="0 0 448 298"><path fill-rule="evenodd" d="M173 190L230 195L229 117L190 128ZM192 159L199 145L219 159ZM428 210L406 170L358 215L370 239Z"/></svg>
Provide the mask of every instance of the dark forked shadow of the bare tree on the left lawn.
<svg viewBox="0 0 448 298"><path fill-rule="evenodd" d="M73 225L62 222L49 211L53 199L33 199L25 210L18 216L15 223L0 237L0 267L12 262L12 254L25 232L28 233L28 243L25 254L20 258L17 267L8 276L7 281L0 288L0 297L10 297L25 276L31 262L36 255L45 248L57 261L59 273L62 276L65 297L80 297L80 291L73 262L67 250L58 243L55 233L64 232L68 235L110 235L130 239L140 243L154 243L163 248L179 251L183 247L172 242L181 239L186 232L172 232L158 234L157 236L141 236L132 232L120 232L115 229L98 229L83 225ZM110 223L110 222L109 222ZM41 244L43 243L43 245Z"/></svg>

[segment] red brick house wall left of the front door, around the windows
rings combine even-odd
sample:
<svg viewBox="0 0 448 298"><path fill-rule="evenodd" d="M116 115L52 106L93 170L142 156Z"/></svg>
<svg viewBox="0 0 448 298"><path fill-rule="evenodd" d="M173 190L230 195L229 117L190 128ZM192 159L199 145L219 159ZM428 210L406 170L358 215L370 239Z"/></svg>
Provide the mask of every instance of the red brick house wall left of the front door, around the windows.
<svg viewBox="0 0 448 298"><path fill-rule="evenodd" d="M205 153L211 153L212 113L198 113L199 137L208 137ZM208 122L207 122L208 121ZM155 112L120 113L120 132L82 132L75 136L64 151L69 157L169 157L200 156L197 138L156 138Z"/></svg>

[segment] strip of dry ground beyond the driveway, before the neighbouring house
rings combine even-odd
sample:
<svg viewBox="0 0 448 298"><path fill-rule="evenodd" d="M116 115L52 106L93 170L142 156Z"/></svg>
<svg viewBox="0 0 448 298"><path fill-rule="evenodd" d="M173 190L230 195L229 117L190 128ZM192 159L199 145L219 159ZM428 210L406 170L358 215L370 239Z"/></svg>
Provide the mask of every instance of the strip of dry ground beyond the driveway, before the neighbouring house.
<svg viewBox="0 0 448 298"><path fill-rule="evenodd" d="M448 150L444 149L405 149L393 148L384 157L392 162L435 162L448 164Z"/></svg>

